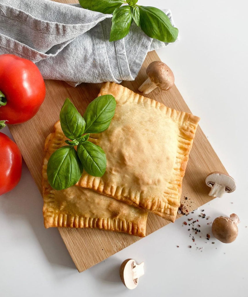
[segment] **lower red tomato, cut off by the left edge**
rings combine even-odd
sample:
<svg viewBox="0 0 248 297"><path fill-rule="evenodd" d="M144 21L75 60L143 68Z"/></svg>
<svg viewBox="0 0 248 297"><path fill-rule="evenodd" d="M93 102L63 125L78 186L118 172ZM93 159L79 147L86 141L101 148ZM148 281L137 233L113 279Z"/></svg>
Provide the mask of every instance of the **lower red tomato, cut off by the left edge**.
<svg viewBox="0 0 248 297"><path fill-rule="evenodd" d="M20 181L22 158L18 146L0 132L0 195L12 190Z"/></svg>

